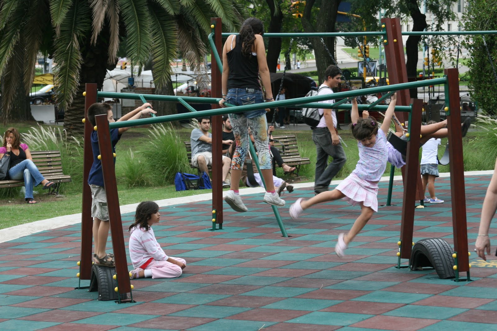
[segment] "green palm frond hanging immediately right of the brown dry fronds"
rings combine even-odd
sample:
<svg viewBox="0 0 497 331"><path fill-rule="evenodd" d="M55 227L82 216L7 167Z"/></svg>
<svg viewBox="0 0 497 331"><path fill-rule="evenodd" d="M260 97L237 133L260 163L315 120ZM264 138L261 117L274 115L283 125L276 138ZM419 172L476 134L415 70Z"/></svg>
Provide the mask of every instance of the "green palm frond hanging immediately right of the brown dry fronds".
<svg viewBox="0 0 497 331"><path fill-rule="evenodd" d="M121 13L126 25L127 54L132 66L138 66L138 74L142 70L150 55L152 36L150 21L147 19L146 0L121 0Z"/></svg>

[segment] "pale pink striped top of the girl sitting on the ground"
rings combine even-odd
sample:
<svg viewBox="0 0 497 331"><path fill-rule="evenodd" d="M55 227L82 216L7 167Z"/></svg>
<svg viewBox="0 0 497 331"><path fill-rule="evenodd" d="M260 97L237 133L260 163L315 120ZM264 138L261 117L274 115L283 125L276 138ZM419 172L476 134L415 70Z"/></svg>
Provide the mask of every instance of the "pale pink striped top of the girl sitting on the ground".
<svg viewBox="0 0 497 331"><path fill-rule="evenodd" d="M152 227L148 231L141 227L134 227L130 233L129 257L134 268L143 265L150 258L157 261L166 261L169 258L155 239Z"/></svg>

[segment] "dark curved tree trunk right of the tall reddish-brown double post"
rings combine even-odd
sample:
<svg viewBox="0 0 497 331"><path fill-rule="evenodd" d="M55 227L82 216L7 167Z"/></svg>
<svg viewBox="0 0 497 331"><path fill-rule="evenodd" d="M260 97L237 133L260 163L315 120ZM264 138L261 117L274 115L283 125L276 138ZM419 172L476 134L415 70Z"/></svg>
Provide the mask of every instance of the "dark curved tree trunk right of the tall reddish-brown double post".
<svg viewBox="0 0 497 331"><path fill-rule="evenodd" d="M426 15L422 14L419 10L416 0L408 0L409 12L413 18L413 31L423 31L428 25L426 24ZM407 55L407 76L417 76L417 61L418 61L418 45L421 36L409 36L406 41L406 55ZM411 98L417 99L417 88L409 89Z"/></svg>

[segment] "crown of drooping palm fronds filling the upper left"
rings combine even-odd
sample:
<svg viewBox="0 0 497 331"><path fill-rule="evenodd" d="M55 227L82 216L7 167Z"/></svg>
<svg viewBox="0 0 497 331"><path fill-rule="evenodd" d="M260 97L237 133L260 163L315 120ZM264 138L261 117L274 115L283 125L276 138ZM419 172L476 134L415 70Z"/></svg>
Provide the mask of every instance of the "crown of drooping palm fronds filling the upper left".
<svg viewBox="0 0 497 331"><path fill-rule="evenodd" d="M2 0L0 77L24 81L27 94L37 52L53 57L56 101L66 112L64 127L81 134L84 84L103 86L107 67L117 64L121 41L126 41L126 55L138 71L152 57L154 83L164 91L171 86L169 63L178 45L193 51L200 62L210 17L221 17L233 31L243 13L235 0ZM24 68L24 79L15 74L16 67ZM14 92L13 87L2 90L4 122Z"/></svg>

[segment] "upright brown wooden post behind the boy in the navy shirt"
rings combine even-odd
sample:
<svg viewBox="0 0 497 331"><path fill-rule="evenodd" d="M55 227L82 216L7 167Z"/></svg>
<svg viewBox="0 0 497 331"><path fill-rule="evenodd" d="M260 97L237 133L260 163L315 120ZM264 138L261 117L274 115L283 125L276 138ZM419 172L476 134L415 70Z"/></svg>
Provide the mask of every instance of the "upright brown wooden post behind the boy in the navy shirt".
<svg viewBox="0 0 497 331"><path fill-rule="evenodd" d="M86 117L89 106L96 102L96 84L86 83L84 98L84 139L83 139L83 202L81 207L81 264L80 279L91 278L91 243L93 238L93 217L91 217L91 190L88 174L93 164L90 135L93 131Z"/></svg>

